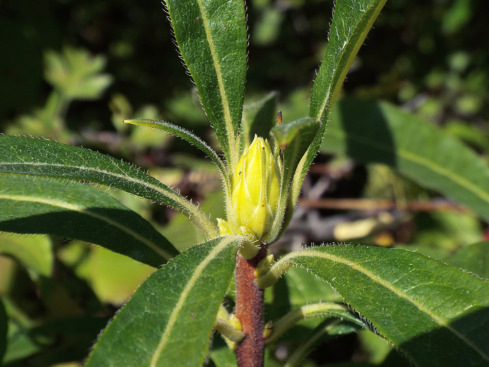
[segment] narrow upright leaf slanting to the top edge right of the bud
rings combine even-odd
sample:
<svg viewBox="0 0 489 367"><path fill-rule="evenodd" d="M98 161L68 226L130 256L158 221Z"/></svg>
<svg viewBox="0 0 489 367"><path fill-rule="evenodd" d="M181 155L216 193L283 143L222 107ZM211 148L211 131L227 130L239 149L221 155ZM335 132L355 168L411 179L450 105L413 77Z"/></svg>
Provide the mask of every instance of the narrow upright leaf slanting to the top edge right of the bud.
<svg viewBox="0 0 489 367"><path fill-rule="evenodd" d="M309 169L321 145L326 121L343 80L372 24L386 0L337 0L328 38L328 48L317 73L311 93L309 115L323 121L308 151L303 170Z"/></svg>

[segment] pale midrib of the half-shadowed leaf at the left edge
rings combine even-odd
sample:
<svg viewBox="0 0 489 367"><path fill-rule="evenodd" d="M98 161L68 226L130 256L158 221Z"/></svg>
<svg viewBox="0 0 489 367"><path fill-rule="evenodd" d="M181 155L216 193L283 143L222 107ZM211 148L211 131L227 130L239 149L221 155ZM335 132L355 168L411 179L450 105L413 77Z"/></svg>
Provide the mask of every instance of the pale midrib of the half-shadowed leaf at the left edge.
<svg viewBox="0 0 489 367"><path fill-rule="evenodd" d="M90 211L82 206L76 206L73 204L67 204L65 202L60 202L57 200L52 200L52 199L45 199L45 198L39 198L39 197L34 197L34 196L27 196L27 195L6 195L6 194L0 194L0 199L4 200L12 200L12 201L23 201L23 202L29 202L29 203L39 203L39 204L45 204L49 206L54 206L54 207L60 207L63 209L67 210L72 210L76 211L81 214L88 215L90 217L96 218L98 220L101 220L127 234L129 234L131 237L133 237L135 240L141 242L143 245L148 247L149 249L153 250L154 252L158 253L160 256L164 257L165 259L169 260L173 257L172 254L164 251L163 249L159 248L153 241L150 239L141 236L139 233L134 232L133 230L127 228L127 226L123 226L120 223L104 217L103 215L94 213L93 211Z"/></svg>

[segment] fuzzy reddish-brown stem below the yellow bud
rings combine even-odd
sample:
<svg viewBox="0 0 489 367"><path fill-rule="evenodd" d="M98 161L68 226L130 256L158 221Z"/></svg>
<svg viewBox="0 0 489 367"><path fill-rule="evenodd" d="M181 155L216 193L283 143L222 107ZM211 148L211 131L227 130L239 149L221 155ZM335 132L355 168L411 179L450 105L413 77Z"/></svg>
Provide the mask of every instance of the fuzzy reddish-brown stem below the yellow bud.
<svg viewBox="0 0 489 367"><path fill-rule="evenodd" d="M236 317L241 321L245 335L235 349L238 367L263 367L264 290L256 286L254 273L266 256L265 245L252 259L236 255Z"/></svg>

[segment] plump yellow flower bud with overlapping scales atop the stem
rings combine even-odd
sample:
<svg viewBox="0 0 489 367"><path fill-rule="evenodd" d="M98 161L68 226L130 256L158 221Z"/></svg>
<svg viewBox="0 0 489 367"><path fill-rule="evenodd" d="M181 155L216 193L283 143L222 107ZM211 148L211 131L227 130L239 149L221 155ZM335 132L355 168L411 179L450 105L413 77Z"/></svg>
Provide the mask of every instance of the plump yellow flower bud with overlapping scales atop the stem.
<svg viewBox="0 0 489 367"><path fill-rule="evenodd" d="M276 160L267 139L255 135L244 149L231 178L229 228L261 239L271 228L280 197L282 161ZM244 228L243 228L244 227Z"/></svg>

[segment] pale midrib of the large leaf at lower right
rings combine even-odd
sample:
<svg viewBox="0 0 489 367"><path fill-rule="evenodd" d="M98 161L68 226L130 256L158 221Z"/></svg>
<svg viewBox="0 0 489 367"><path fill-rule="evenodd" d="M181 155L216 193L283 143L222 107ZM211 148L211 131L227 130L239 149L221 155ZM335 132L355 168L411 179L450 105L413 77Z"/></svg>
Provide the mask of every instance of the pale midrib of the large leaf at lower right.
<svg viewBox="0 0 489 367"><path fill-rule="evenodd" d="M376 283L380 284L381 286L387 288L389 291L393 292L394 294L396 294L400 298L403 298L406 301L408 301L411 304L413 304L414 306L416 306L416 308L418 308L421 312L423 312L424 314L426 314L427 316L429 316L437 324L439 324L442 327L445 327L452 334L454 334L456 337L458 337L464 343L466 343L469 347L471 347L473 350L475 350L477 352L477 354L479 354L484 360L489 361L489 356L486 353L484 353L484 351L482 351L481 349L479 349L475 344L473 344L470 340L468 340L465 335L459 333L457 330L455 330L453 327L451 327L450 324L448 324L445 320L443 320L438 315L436 315L435 313L433 313L431 310L429 310L428 308L426 308L425 306L423 306L416 299L410 297L409 295L407 295L405 292L401 291L400 289L395 288L391 283L389 283L388 281L385 281L384 279L380 278L378 275L375 275L374 273L372 273L368 269L366 269L366 268L358 265L357 263L355 263L353 261L347 260L345 258L342 258L342 257L339 257L339 256L335 256L335 255L332 255L332 254L329 254L329 253L323 253L323 252L317 252L317 251L311 251L311 250L293 252L293 253L285 256L283 259L280 259L279 261L282 262L282 260L283 260L283 261L292 261L293 262L293 258L294 257L300 257L300 256L303 256L303 257L313 257L313 256L316 256L316 257L319 257L319 258L324 258L326 260L330 260L330 261L333 261L333 262L338 262L338 263L341 263L341 264L350 266L351 268L355 269L359 273L362 273L362 274L368 276L374 282L376 282Z"/></svg>

